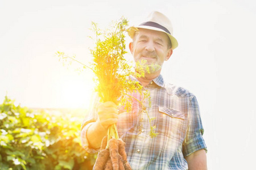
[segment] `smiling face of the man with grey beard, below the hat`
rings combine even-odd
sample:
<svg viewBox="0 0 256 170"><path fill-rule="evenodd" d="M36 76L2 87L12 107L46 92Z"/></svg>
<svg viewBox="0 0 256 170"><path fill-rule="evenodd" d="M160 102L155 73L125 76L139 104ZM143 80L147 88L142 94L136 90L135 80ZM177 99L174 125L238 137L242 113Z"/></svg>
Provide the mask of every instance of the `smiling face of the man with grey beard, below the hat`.
<svg viewBox="0 0 256 170"><path fill-rule="evenodd" d="M146 60L146 65L159 65L150 69L150 73L154 73L162 68L163 62L172 54L168 41L169 37L164 32L140 28L129 47L135 62Z"/></svg>

